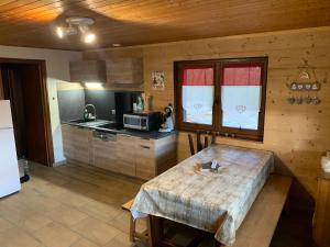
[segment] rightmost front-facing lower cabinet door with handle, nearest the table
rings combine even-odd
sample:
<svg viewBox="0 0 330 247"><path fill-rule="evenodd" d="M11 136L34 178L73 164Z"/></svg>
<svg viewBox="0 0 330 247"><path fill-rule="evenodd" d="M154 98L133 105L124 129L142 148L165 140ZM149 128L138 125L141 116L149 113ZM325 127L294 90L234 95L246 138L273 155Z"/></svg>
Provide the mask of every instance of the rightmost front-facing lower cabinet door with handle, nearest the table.
<svg viewBox="0 0 330 247"><path fill-rule="evenodd" d="M153 141L136 143L136 177L150 180L156 176L155 146Z"/></svg>

